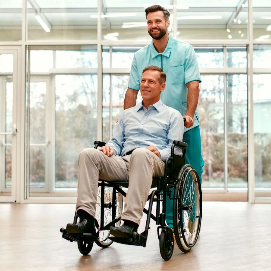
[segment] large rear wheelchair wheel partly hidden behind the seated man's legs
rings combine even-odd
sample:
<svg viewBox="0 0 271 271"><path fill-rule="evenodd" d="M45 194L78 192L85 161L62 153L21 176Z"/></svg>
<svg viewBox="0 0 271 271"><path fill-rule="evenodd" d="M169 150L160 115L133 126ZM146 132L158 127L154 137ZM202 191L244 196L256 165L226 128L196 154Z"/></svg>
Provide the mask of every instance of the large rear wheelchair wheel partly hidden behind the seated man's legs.
<svg viewBox="0 0 271 271"><path fill-rule="evenodd" d="M98 187L98 196L96 204L96 227L101 228L101 186ZM104 226L109 224L112 220L116 219L122 213L122 195L111 186L104 187ZM114 209L113 209L114 208ZM114 212L113 212L114 210ZM115 213L115 214L114 214ZM114 217L113 217L114 216ZM97 225L98 223L98 225ZM119 220L115 226L120 226ZM109 247L113 241L108 238L109 229L99 230L99 239L95 240L95 243L101 248Z"/></svg>

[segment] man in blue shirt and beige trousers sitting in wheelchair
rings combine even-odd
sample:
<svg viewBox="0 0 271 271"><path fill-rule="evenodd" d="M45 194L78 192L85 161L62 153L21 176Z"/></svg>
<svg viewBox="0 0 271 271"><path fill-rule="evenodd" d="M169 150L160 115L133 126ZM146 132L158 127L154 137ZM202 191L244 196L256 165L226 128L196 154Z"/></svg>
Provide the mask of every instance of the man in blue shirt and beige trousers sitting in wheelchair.
<svg viewBox="0 0 271 271"><path fill-rule="evenodd" d="M67 233L95 234L99 178L107 182L129 181L121 215L124 223L111 227L111 235L129 238L137 232L152 179L164 175L164 162L170 157L173 141L182 141L183 137L182 115L160 100L165 82L162 69L146 67L140 82L142 103L120 114L113 137L105 146L87 148L80 153L76 203L80 220L67 224ZM182 155L177 147L174 153Z"/></svg>

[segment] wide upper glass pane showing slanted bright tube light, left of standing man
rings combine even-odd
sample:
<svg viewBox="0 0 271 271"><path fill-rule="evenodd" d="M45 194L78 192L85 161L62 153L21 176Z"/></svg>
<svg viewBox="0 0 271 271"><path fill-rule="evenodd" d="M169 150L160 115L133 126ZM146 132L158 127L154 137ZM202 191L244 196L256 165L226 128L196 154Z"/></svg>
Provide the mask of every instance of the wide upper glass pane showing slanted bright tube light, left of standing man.
<svg viewBox="0 0 271 271"><path fill-rule="evenodd" d="M96 40L97 3L83 0L29 1L28 40Z"/></svg>

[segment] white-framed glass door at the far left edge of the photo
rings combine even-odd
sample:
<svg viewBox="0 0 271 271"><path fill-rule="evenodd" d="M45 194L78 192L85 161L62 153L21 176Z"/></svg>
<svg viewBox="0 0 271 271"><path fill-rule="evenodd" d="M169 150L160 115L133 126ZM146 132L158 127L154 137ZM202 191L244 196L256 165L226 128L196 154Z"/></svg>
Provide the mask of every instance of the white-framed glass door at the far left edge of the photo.
<svg viewBox="0 0 271 271"><path fill-rule="evenodd" d="M0 49L0 202L16 201L17 50Z"/></svg>

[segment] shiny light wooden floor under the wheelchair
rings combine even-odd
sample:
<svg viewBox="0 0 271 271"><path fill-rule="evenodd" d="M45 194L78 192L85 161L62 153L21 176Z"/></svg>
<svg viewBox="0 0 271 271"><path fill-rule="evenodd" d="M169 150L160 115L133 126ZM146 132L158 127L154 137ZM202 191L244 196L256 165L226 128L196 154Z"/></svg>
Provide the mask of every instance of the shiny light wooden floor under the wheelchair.
<svg viewBox="0 0 271 271"><path fill-rule="evenodd" d="M175 245L167 262L154 223L146 248L94 244L82 256L59 231L73 214L74 204L0 204L0 270L271 270L271 204L204 202L196 246L183 254Z"/></svg>

